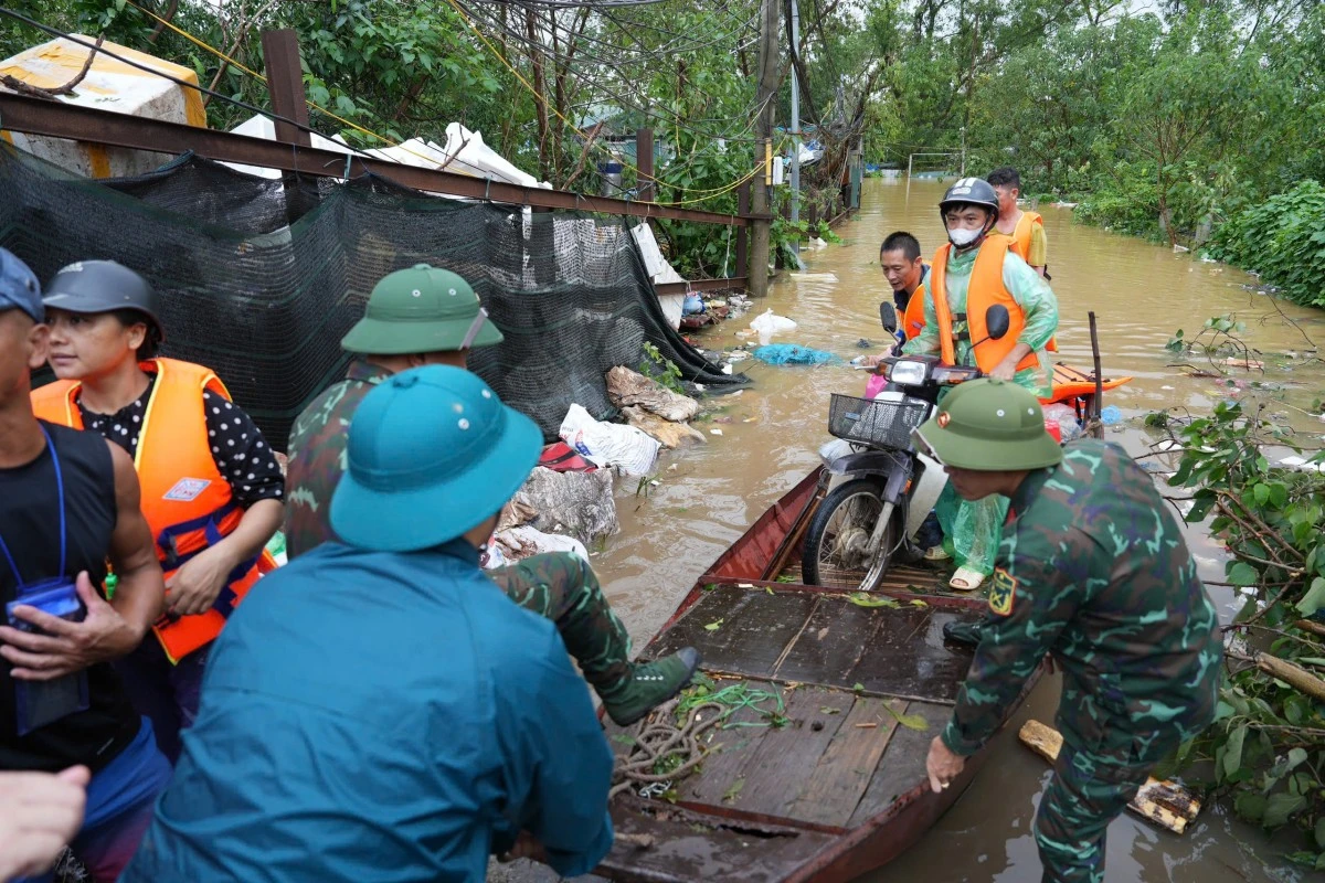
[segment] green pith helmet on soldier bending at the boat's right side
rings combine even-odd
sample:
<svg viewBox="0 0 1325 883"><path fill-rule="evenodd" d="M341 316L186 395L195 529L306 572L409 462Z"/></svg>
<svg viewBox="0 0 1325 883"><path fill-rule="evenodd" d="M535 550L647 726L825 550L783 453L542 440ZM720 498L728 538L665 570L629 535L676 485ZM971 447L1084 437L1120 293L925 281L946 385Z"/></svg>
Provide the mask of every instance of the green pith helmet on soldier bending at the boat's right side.
<svg viewBox="0 0 1325 883"><path fill-rule="evenodd" d="M1063 449L1044 429L1040 400L1024 387L971 380L938 408L916 434L945 466L1018 471L1063 462Z"/></svg>

